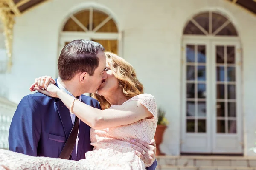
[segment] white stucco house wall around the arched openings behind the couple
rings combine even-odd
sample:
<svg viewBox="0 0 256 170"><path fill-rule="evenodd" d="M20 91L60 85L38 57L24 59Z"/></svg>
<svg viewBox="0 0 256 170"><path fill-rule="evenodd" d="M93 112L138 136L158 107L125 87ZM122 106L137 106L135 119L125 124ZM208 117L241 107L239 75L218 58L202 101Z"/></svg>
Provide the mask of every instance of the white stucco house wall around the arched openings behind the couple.
<svg viewBox="0 0 256 170"><path fill-rule="evenodd" d="M97 6L112 14L123 32L122 57L137 70L145 92L167 112L162 150L180 154L181 40L187 20L217 9L236 26L243 48L243 112L246 155L256 137L256 16L226 0L52 0L16 18L12 72L0 82L6 97L18 103L36 77L55 76L58 37L68 14Z"/></svg>

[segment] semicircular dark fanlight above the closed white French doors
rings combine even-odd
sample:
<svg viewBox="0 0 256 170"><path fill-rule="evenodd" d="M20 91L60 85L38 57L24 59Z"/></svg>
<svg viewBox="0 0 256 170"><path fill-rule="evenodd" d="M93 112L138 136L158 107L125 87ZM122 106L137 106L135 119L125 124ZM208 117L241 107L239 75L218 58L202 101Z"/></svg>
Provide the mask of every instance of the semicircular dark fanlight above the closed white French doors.
<svg viewBox="0 0 256 170"><path fill-rule="evenodd" d="M203 12L186 24L184 35L238 36L231 21L217 12Z"/></svg>

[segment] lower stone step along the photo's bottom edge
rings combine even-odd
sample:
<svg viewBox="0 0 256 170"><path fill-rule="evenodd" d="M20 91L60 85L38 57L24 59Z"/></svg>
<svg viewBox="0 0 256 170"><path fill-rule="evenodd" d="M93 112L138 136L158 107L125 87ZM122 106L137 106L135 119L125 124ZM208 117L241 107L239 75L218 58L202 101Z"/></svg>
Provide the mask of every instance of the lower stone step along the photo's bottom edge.
<svg viewBox="0 0 256 170"><path fill-rule="evenodd" d="M256 170L256 167L158 165L156 170Z"/></svg>

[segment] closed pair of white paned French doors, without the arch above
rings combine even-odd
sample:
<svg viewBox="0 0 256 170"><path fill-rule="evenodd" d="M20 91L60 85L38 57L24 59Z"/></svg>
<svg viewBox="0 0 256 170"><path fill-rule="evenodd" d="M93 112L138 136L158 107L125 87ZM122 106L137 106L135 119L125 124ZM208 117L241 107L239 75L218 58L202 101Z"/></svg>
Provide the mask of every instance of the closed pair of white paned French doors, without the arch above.
<svg viewBox="0 0 256 170"><path fill-rule="evenodd" d="M238 40L183 40L182 153L241 154Z"/></svg>

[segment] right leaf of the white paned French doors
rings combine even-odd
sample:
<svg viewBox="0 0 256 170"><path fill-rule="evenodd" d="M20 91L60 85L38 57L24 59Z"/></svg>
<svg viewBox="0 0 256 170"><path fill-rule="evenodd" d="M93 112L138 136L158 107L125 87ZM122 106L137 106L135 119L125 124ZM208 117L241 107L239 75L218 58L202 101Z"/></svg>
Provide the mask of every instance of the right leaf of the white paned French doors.
<svg viewBox="0 0 256 170"><path fill-rule="evenodd" d="M240 45L214 41L212 56L212 153L242 153Z"/></svg>

